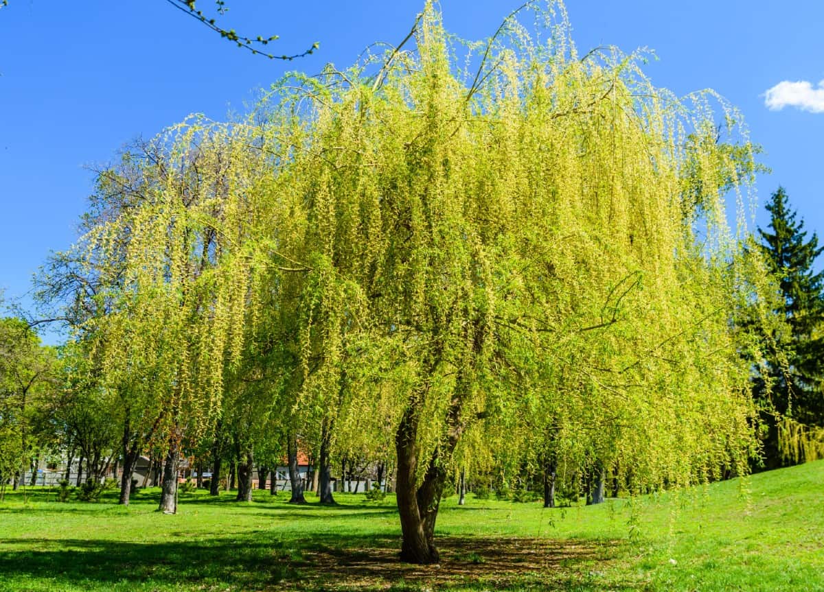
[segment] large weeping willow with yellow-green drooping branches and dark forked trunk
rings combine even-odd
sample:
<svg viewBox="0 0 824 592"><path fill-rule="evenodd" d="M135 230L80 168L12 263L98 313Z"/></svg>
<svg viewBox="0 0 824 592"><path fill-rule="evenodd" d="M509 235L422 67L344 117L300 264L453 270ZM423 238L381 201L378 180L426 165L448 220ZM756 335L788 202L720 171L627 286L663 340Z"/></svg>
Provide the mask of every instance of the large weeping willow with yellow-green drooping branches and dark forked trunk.
<svg viewBox="0 0 824 592"><path fill-rule="evenodd" d="M87 240L128 237L99 347L157 403L169 459L277 351L321 464L394 448L405 561L438 561L459 464L541 450L634 492L746 470L759 353L736 311L761 268L723 201L743 216L746 134L541 14L536 40L510 17L461 46L428 4L377 72L294 76L247 121L159 140L139 207Z"/></svg>

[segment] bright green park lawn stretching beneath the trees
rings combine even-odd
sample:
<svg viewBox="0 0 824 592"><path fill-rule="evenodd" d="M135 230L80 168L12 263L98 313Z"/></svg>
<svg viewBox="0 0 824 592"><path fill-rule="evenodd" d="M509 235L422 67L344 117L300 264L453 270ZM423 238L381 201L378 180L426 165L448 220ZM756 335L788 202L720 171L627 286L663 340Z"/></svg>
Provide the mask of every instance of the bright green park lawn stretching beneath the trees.
<svg viewBox="0 0 824 592"><path fill-rule="evenodd" d="M28 492L0 503L0 590L824 590L824 461L594 507L452 496L442 562L424 567L396 560L391 496L321 507L198 492L169 516L158 490L128 509L114 492Z"/></svg>

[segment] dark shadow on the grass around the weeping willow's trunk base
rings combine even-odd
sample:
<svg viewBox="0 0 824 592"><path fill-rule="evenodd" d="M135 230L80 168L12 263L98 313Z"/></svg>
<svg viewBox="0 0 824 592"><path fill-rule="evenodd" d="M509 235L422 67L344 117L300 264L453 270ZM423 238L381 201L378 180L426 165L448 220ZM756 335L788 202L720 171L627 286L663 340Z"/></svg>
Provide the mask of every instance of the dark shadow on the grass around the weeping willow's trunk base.
<svg viewBox="0 0 824 592"><path fill-rule="evenodd" d="M78 587L151 581L175 590L597 590L588 587L588 574L616 548L450 536L438 538L438 566L413 566L398 560L397 536L282 538L270 530L234 538L185 536L170 533L171 540L162 543L17 539L12 550L0 548L0 573Z"/></svg>

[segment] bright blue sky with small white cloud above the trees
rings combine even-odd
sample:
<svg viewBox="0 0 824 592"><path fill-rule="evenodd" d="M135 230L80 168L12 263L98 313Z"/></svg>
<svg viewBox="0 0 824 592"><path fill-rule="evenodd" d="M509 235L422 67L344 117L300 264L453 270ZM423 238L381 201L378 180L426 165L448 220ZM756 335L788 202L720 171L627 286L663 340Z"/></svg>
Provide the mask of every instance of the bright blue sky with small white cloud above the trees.
<svg viewBox="0 0 824 592"><path fill-rule="evenodd" d="M521 3L442 0L442 11L448 30L481 39ZM423 0L227 5L225 26L280 35L279 53L315 41L321 49L291 63L255 57L165 0L9 0L0 9L0 288L7 301L25 302L31 274L49 251L75 240L93 179L87 167L187 114L242 112L255 89L283 72L315 73L327 62L343 68L374 41L397 43ZM773 170L759 179L761 204L783 184L806 226L824 235L824 2L786 6L567 2L578 49L647 46L658 55L646 70L656 85L679 95L711 87L737 105ZM213 2L199 7L211 12ZM763 212L758 222L765 224Z"/></svg>

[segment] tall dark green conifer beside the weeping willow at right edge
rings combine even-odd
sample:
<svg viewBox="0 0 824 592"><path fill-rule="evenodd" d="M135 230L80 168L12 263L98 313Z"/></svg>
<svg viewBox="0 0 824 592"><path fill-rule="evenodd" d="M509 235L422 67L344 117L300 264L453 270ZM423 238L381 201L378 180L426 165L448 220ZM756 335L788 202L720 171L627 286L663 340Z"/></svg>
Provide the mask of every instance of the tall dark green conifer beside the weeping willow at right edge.
<svg viewBox="0 0 824 592"><path fill-rule="evenodd" d="M770 198L766 209L770 212L770 231L758 229L761 249L770 271L775 274L780 289L780 308L776 314L786 320L787 334L776 335L776 340L787 352L786 367L778 361L770 363L774 386L770 397L772 407L780 416L793 417L809 426L824 424L824 272L813 269L815 259L824 251L813 232L803 230L804 223L796 220L797 212L790 209L787 193L779 187ZM759 381L763 385L763 380ZM756 395L764 389L756 386ZM777 446L776 419L768 418L769 436L765 442L768 466L780 464Z"/></svg>

